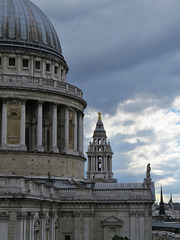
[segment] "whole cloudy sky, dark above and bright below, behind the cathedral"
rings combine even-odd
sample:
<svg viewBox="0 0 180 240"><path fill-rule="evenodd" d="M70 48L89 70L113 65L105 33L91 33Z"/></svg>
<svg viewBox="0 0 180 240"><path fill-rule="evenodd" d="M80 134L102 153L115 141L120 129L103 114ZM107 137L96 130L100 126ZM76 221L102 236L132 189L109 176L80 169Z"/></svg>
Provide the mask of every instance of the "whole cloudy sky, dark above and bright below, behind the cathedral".
<svg viewBox="0 0 180 240"><path fill-rule="evenodd" d="M84 148L98 111L119 182L143 181L151 164L157 201L163 186L180 201L180 1L32 0L50 18L81 88Z"/></svg>

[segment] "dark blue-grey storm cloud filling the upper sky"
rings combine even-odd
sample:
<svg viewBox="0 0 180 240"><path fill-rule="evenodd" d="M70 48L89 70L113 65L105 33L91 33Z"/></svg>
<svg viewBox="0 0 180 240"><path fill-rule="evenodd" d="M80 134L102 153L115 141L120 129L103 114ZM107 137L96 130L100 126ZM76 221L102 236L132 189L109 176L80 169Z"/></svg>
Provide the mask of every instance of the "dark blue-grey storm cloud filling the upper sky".
<svg viewBox="0 0 180 240"><path fill-rule="evenodd" d="M179 93L178 68L166 68L180 45L179 1L36 2L62 40L68 81L90 106L108 112L138 94L163 104Z"/></svg>

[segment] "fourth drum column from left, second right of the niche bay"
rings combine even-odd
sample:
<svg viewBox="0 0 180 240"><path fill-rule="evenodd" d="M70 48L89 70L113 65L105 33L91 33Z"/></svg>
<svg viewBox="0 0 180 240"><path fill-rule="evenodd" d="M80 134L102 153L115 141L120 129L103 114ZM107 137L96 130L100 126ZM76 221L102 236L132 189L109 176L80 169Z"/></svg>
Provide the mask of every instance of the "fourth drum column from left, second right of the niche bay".
<svg viewBox="0 0 180 240"><path fill-rule="evenodd" d="M53 104L51 151L55 153L59 153L59 149L57 147L57 104Z"/></svg>

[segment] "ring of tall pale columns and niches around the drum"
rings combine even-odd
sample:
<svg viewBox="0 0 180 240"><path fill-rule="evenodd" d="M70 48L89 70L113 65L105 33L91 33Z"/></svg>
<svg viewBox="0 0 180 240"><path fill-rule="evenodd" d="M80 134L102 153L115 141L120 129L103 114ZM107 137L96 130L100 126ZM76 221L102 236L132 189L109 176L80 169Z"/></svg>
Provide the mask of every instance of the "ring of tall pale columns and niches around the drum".
<svg viewBox="0 0 180 240"><path fill-rule="evenodd" d="M45 114L43 114L43 107L46 104L46 102L42 101L34 101L36 111L33 109L33 112L36 112L35 116L35 127L36 127L36 134L34 134L32 129L31 133L35 136L35 143L36 146L34 146L34 149L38 152L44 152L45 148L43 146L43 138L44 138L44 129L45 127L43 125L45 122ZM81 111L78 111L75 108L69 107L67 105L59 105L58 103L48 103L50 105L49 115L50 115L50 140L48 140L51 144L49 151L54 153L82 153L83 152L83 113ZM18 106L18 107L16 107ZM29 106L29 105L28 105ZM19 113L18 113L19 108ZM11 100L11 99L4 99L2 101L2 116L1 116L1 149L8 150L27 150L26 146L26 126L27 126L27 101L25 100ZM61 138L61 141L63 141L63 144L61 144L61 149L58 146L58 139L57 139L57 132L58 132L58 109L63 109L63 115L61 116L63 124L63 130L61 130L61 133L63 132L63 137ZM70 121L70 112L73 114L73 121ZM17 115L17 121L15 122L16 125L12 127L12 132L16 131L17 124L19 121L20 131L19 136L13 136L13 134L10 134L11 136L8 136L7 134L7 128L8 128L8 115L10 114ZM19 115L18 115L19 114ZM30 113L30 115L33 115L33 113ZM32 119L33 116L30 116ZM71 134L70 134L70 123L73 125L73 128L71 128ZM73 133L72 133L73 131ZM16 134L18 135L18 134ZM8 142L8 137L15 138L17 137L19 142ZM48 136L47 136L48 137ZM73 142L73 147L70 147L70 138ZM32 137L34 138L34 136ZM63 147L62 147L63 146ZM62 149L63 148L63 149Z"/></svg>

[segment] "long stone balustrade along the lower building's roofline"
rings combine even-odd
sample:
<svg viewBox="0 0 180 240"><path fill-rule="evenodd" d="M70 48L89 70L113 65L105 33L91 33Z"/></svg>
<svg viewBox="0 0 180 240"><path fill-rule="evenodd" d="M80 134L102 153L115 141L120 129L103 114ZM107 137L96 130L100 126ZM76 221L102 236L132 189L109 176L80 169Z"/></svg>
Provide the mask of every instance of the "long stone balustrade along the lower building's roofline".
<svg viewBox="0 0 180 240"><path fill-rule="evenodd" d="M72 186L73 187L73 186ZM141 192L141 194L140 194ZM40 193L40 194L39 194ZM3 178L0 179L0 196L17 196L21 195L37 196L37 198L53 199L62 201L64 198L69 200L122 200L122 201L151 201L151 194L147 189L88 189L88 188L55 188L45 184L34 183L25 179Z"/></svg>

